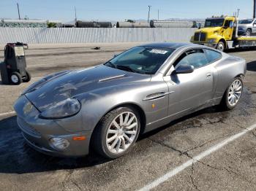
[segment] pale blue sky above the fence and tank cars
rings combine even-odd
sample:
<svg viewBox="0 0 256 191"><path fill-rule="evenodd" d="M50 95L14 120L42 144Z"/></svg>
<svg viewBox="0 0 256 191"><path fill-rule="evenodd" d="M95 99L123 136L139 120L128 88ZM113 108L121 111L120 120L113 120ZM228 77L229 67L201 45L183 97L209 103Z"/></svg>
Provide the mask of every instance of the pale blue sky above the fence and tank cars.
<svg viewBox="0 0 256 191"><path fill-rule="evenodd" d="M0 18L20 17L69 22L78 20L147 20L148 5L151 19L206 18L212 15L233 15L239 8L240 18L252 17L253 0L0 0Z"/></svg>

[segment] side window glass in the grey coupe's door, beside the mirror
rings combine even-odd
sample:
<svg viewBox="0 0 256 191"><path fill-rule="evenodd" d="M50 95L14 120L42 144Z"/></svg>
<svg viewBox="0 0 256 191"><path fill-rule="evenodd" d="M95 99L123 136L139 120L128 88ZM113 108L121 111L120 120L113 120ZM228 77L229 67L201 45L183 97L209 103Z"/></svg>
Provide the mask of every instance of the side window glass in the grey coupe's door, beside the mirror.
<svg viewBox="0 0 256 191"><path fill-rule="evenodd" d="M202 66L206 66L208 60L206 58L205 52L202 49L189 50L184 52L173 64L174 68L177 69L180 65L190 65L194 66L195 69Z"/></svg>

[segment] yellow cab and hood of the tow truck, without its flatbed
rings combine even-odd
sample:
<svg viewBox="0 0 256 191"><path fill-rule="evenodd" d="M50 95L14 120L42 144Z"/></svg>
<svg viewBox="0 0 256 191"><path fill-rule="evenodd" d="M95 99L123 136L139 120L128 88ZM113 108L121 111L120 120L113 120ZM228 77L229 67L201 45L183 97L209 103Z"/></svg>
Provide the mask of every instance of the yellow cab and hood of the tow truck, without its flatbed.
<svg viewBox="0 0 256 191"><path fill-rule="evenodd" d="M195 31L190 42L203 44L223 51L228 47L227 41L236 35L236 17L211 17L206 19L204 28Z"/></svg>

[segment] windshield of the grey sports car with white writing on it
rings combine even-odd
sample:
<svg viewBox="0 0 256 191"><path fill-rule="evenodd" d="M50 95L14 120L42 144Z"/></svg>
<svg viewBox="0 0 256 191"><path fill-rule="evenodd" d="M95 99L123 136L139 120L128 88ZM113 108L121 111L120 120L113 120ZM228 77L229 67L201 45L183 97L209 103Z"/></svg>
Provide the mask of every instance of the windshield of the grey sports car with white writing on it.
<svg viewBox="0 0 256 191"><path fill-rule="evenodd" d="M105 66L140 74L155 74L174 49L133 47L105 63Z"/></svg>

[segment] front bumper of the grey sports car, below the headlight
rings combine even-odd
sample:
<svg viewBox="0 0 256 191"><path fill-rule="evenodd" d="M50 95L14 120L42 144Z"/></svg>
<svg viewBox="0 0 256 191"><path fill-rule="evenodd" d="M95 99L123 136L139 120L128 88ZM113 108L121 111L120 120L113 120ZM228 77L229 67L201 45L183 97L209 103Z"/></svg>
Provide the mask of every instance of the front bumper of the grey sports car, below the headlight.
<svg viewBox="0 0 256 191"><path fill-rule="evenodd" d="M89 142L91 130L81 132L69 132L59 125L56 120L44 120L39 118L39 112L31 105L25 95L15 102L17 122L23 137L29 146L39 152L59 157L78 157L89 154ZM75 141L73 137L85 136L82 141ZM50 144L51 138L62 138L69 141L66 149L56 149Z"/></svg>

